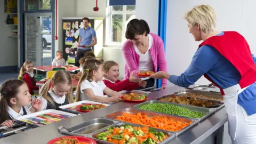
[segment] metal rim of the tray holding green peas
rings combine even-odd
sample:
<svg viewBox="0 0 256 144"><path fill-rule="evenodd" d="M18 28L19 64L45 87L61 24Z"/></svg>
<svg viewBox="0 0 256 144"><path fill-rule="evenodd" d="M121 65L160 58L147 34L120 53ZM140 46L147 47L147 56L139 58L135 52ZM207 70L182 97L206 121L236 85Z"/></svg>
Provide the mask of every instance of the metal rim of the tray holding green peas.
<svg viewBox="0 0 256 144"><path fill-rule="evenodd" d="M138 105L135 105L133 107L139 109L140 106L142 105L147 105L149 103L167 103L169 105L175 105L175 106L179 106L179 107L185 107L188 108L191 111L197 111L199 113L204 113L205 115L201 118L193 118L193 117L188 117L188 118L192 118L192 119L197 119L198 121L202 121L203 119L205 119L206 117L210 116L216 109L211 109L211 108L203 108L203 107L195 107L195 106L188 106L188 105L180 105L179 103L171 103L171 102L165 102L165 101L158 101L158 100L150 100L150 101L146 101L143 103L140 103ZM147 110L150 111L150 110ZM156 111L154 111L156 112ZM156 112L158 113L158 112ZM165 113L161 113L161 114L165 114ZM166 115L171 115L171 114L166 114ZM176 116L176 115L175 115ZM179 117L185 117L185 116L179 116Z"/></svg>

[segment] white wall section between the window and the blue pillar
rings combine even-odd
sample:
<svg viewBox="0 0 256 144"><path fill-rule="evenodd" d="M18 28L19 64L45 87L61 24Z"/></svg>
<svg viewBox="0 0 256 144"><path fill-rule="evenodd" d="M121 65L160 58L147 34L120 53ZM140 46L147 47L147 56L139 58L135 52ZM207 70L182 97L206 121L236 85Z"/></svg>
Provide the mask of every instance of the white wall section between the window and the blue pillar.
<svg viewBox="0 0 256 144"><path fill-rule="evenodd" d="M158 33L158 0L136 0L136 18L147 21L150 32Z"/></svg>

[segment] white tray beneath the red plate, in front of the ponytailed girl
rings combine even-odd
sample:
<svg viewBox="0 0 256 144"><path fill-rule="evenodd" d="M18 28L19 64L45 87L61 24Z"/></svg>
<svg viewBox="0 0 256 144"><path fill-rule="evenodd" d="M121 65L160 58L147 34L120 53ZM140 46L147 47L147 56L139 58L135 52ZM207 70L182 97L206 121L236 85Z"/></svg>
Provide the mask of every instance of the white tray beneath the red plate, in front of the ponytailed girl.
<svg viewBox="0 0 256 144"><path fill-rule="evenodd" d="M76 111L76 107L78 105L82 105L84 103L92 103L92 104L101 104L102 102L96 102L96 101L90 101L90 100L83 100L83 101L78 101L78 102L74 102L74 103L70 103L68 105L64 105L64 106L60 106L59 108L65 111L70 111L71 113L75 113L75 114L83 114L82 112ZM103 103L102 105L104 106L110 106L106 103Z"/></svg>

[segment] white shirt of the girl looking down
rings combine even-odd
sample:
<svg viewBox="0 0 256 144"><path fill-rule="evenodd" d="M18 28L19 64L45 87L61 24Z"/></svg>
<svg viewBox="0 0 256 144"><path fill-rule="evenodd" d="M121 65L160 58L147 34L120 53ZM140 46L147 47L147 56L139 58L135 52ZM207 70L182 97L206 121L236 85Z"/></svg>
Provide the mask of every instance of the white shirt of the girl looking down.
<svg viewBox="0 0 256 144"><path fill-rule="evenodd" d="M53 101L55 101L56 103L60 104L60 103L65 102L66 95L63 95L62 97L59 97L52 90L50 90L48 92L51 95ZM43 97L39 97L38 99L42 100L42 110L45 110L47 108L47 100Z"/></svg>

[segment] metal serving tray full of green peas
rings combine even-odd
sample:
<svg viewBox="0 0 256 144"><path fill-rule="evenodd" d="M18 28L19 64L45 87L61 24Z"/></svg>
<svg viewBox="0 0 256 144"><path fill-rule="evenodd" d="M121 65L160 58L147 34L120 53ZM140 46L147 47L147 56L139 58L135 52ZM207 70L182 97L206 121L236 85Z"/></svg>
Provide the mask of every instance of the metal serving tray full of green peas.
<svg viewBox="0 0 256 144"><path fill-rule="evenodd" d="M193 118L197 119L198 121L202 121L204 118L210 116L215 111L215 109L210 108L180 105L179 103L171 103L158 100L146 101L140 103L139 105L135 105L134 108Z"/></svg>

